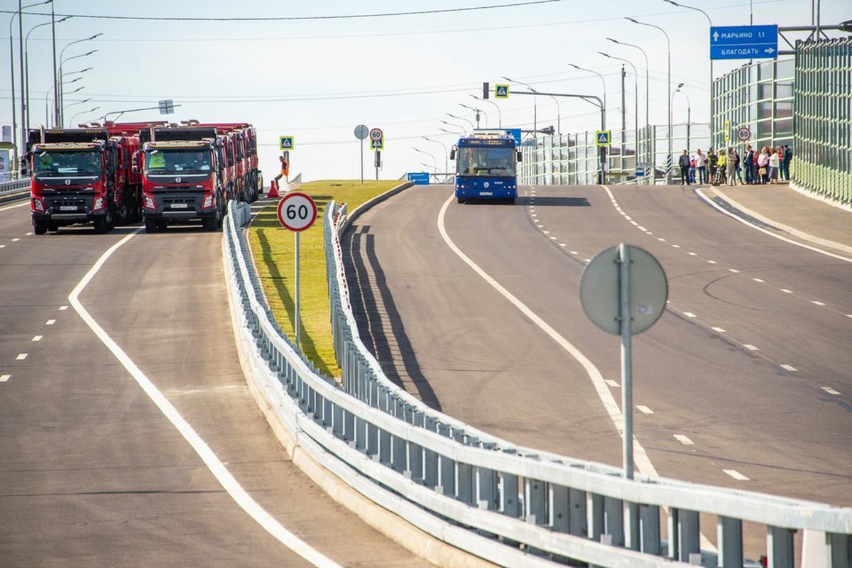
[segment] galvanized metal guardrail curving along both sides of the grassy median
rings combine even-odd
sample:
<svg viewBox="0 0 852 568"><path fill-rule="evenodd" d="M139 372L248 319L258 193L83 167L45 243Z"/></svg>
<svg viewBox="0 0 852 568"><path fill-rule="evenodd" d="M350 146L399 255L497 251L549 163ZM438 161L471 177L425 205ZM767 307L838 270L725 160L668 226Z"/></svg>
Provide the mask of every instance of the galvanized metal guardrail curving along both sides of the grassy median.
<svg viewBox="0 0 852 568"><path fill-rule="evenodd" d="M792 568L797 530L825 531L829 565L849 568L852 509L673 479L623 479L618 468L512 445L395 387L360 341L339 240L351 219L345 205L331 202L324 231L339 387L274 323L233 204L229 210L225 265L252 378L314 459L412 525L505 566L701 561L740 568L742 523L750 521L767 526L771 568ZM717 518L717 555L701 554L701 513ZM664 516L667 541L660 537Z"/></svg>

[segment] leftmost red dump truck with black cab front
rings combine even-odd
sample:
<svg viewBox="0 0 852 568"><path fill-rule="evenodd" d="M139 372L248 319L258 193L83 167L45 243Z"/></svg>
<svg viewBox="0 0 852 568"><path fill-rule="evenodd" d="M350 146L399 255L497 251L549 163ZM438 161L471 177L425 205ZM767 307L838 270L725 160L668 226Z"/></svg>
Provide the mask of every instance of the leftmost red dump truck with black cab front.
<svg viewBox="0 0 852 568"><path fill-rule="evenodd" d="M135 125L131 125L132 126ZM141 177L133 169L139 137L123 128L32 129L26 164L31 174L32 230L93 223L107 232L138 221Z"/></svg>

